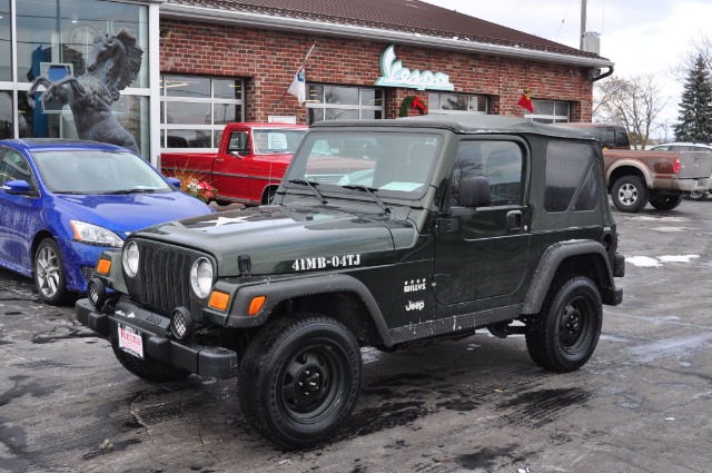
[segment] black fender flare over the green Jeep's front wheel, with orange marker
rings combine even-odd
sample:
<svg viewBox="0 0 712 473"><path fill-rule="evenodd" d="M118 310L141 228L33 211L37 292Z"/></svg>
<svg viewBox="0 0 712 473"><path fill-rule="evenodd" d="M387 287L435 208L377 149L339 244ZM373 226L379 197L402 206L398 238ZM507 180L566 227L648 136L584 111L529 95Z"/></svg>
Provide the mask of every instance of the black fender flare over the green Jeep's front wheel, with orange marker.
<svg viewBox="0 0 712 473"><path fill-rule="evenodd" d="M217 285L216 285L217 288ZM227 290L229 292L229 290ZM235 293L228 315L228 327L255 327L265 324L273 309L280 303L300 296L329 293L352 293L362 299L372 317L378 336L385 346L393 346L393 339L384 316L368 288L360 280L347 274L328 274L298 279L269 280L243 286ZM266 296L265 304L254 316L248 316L254 297Z"/></svg>

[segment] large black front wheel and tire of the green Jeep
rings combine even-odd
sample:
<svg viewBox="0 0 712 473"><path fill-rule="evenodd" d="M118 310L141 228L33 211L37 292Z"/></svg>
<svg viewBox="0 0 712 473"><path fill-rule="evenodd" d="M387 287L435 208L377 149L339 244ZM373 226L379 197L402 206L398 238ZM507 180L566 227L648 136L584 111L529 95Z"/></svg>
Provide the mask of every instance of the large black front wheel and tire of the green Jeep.
<svg viewBox="0 0 712 473"><path fill-rule="evenodd" d="M245 352L238 400L265 438L306 446L346 421L360 390L358 343L339 322L289 315L265 326Z"/></svg>

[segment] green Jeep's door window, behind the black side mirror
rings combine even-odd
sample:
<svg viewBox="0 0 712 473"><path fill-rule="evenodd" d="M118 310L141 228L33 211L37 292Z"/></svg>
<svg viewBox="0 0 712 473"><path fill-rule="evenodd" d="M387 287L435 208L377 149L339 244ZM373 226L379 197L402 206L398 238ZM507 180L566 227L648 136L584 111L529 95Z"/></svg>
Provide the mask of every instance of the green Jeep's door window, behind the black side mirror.
<svg viewBox="0 0 712 473"><path fill-rule="evenodd" d="M490 183L490 206L522 204L522 149L512 141L461 141L451 180L451 204L459 204L463 178L483 176Z"/></svg>

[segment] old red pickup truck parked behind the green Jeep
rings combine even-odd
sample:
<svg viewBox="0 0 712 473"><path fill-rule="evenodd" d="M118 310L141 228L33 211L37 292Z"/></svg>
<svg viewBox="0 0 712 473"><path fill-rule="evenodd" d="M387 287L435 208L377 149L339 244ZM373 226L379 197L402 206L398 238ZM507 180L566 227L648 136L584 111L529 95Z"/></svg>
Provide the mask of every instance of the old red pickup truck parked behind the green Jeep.
<svg viewBox="0 0 712 473"><path fill-rule="evenodd" d="M288 124L229 124L217 154L161 152L161 171L166 176L205 180L217 188L212 200L218 204L267 204L307 128Z"/></svg>

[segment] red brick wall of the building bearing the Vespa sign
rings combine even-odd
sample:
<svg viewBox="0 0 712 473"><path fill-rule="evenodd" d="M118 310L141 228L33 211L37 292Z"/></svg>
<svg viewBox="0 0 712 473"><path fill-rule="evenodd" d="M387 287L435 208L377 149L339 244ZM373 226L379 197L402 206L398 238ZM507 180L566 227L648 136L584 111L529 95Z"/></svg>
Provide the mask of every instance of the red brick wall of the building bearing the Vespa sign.
<svg viewBox="0 0 712 473"><path fill-rule="evenodd" d="M280 99L314 41L307 82L345 86L373 87L380 76L380 55L389 46L174 20L161 20L160 28L170 30L160 40L161 72L246 79L248 121L296 115L305 122L304 107L295 97ZM516 104L528 89L535 99L573 102L573 120L591 120L593 85L585 68L403 45L396 46L396 55L411 70L449 75L456 92L488 95L491 114L524 116ZM400 101L408 95L421 97L427 106L427 91L386 88L387 118L398 116Z"/></svg>

